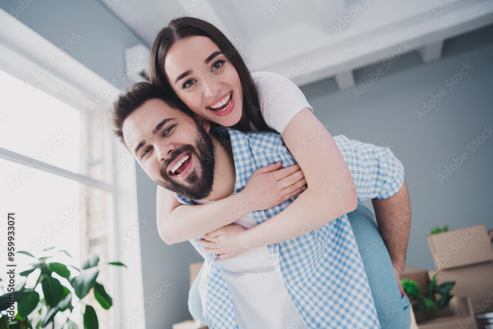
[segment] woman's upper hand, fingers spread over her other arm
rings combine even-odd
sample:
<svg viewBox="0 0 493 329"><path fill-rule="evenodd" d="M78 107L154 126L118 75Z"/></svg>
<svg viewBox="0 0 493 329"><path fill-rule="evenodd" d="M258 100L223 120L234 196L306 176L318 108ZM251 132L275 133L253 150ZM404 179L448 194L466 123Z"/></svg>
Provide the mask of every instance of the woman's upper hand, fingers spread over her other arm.
<svg viewBox="0 0 493 329"><path fill-rule="evenodd" d="M306 189L305 174L298 164L281 168L277 162L255 170L240 192L254 210L266 210L291 199Z"/></svg>

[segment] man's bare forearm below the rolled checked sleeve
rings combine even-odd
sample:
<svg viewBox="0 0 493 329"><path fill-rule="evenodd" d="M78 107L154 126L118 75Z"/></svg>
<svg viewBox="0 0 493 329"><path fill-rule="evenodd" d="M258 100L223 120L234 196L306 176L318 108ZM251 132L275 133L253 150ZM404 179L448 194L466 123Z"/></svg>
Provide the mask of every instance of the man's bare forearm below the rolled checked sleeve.
<svg viewBox="0 0 493 329"><path fill-rule="evenodd" d="M411 229L411 203L406 181L397 193L387 199L372 199L378 229L387 246L397 284L402 294L400 274L406 262L407 243Z"/></svg>

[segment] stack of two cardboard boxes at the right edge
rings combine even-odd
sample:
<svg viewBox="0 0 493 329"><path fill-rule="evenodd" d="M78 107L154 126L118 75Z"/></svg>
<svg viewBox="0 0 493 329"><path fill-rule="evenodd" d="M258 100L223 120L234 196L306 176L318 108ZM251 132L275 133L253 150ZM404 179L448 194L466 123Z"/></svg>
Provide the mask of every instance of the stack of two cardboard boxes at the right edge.
<svg viewBox="0 0 493 329"><path fill-rule="evenodd" d="M469 296L475 315L493 311L493 249L485 225L428 237L437 281L455 281L454 296Z"/></svg>

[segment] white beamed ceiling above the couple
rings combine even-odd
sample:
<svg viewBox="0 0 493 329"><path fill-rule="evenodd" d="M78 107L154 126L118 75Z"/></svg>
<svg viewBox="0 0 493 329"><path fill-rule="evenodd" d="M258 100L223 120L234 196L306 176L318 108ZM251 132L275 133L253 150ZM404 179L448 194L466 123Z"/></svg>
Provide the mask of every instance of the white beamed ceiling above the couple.
<svg viewBox="0 0 493 329"><path fill-rule="evenodd" d="M341 88L354 84L352 71L357 68L413 50L420 51L424 62L437 60L445 39L493 23L493 0L108 3L148 45L171 19L199 17L217 26L240 48L252 71L288 73L298 85L335 76Z"/></svg>

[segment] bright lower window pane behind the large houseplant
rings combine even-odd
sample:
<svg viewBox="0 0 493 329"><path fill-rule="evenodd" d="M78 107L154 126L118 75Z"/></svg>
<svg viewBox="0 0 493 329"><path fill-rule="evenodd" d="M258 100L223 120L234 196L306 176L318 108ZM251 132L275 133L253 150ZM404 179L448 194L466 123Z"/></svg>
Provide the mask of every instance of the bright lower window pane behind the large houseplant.
<svg viewBox="0 0 493 329"><path fill-rule="evenodd" d="M108 223L112 222L110 192L1 158L0 168L1 200L8 207L6 211L15 212L16 251L24 250L40 257L46 254L43 249L55 247L54 251L66 250L73 257L58 253L56 261L76 267L89 254L98 255L100 264L114 260L108 259ZM0 234L6 236L6 225L1 226ZM5 250L0 254L3 253ZM6 254L1 255L6 259ZM32 262L32 257L17 254L17 273L30 268ZM109 266L99 266L99 270L97 281L112 295ZM77 272L72 270L71 275ZM34 276L28 281L31 286L35 285L33 280L37 275ZM17 277L17 283L20 281L21 277ZM112 328L111 312L103 310L92 293L87 302L96 309L101 328ZM73 313L70 319L81 321L80 310ZM62 315L59 318L61 322L57 322L56 328L61 328L66 320ZM78 325L83 327L81 322Z"/></svg>

